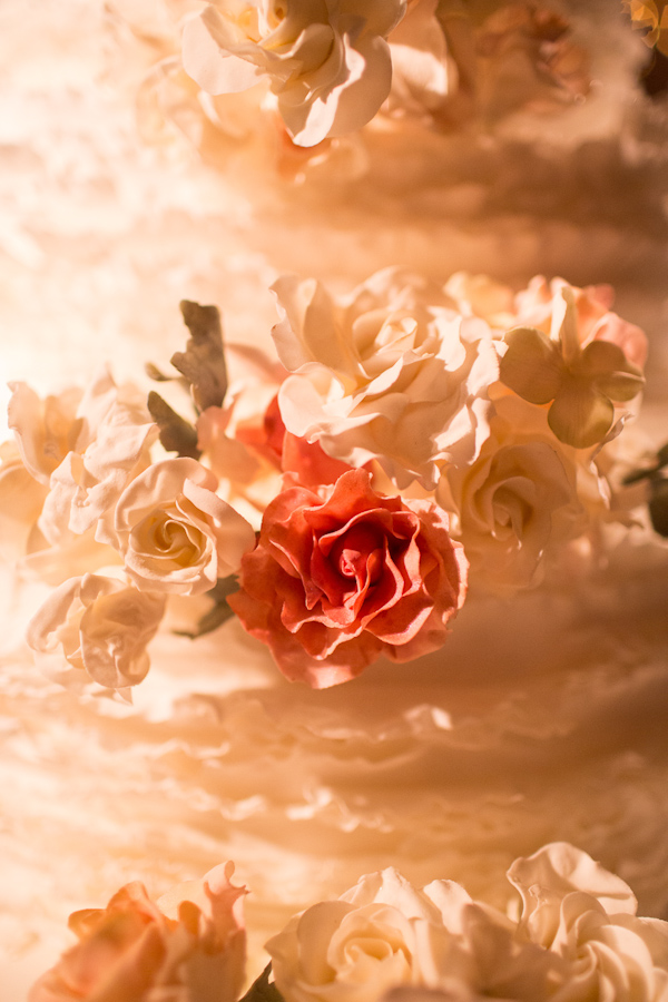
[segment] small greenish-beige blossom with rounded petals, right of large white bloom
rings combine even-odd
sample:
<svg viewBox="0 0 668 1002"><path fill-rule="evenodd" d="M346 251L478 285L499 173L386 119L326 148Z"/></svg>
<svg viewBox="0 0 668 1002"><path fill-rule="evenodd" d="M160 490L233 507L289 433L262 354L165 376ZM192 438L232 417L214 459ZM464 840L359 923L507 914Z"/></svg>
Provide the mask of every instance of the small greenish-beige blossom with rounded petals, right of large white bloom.
<svg viewBox="0 0 668 1002"><path fill-rule="evenodd" d="M501 381L532 404L549 404L550 428L561 442L577 449L601 442L612 428L615 403L632 400L642 389L640 369L619 344L595 334L581 347L576 301L568 286L561 289L549 337L536 327L514 327L505 341Z"/></svg>

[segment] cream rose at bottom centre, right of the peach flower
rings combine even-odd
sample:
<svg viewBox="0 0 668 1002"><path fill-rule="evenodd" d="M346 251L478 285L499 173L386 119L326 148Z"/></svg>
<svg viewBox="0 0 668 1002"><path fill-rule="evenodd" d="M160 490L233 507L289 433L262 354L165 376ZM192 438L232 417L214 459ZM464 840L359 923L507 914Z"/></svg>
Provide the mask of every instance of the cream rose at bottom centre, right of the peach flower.
<svg viewBox="0 0 668 1002"><path fill-rule="evenodd" d="M416 891L392 868L363 876L269 940L276 986L286 1002L374 1002L395 985L438 984L469 902L446 881Z"/></svg>

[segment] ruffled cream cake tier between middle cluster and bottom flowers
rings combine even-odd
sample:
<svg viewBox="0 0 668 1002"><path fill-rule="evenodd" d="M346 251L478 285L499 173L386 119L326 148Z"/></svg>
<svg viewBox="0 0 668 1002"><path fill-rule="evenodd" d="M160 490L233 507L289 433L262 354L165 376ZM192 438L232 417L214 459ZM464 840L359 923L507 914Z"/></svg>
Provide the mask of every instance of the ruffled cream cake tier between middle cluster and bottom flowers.
<svg viewBox="0 0 668 1002"><path fill-rule="evenodd" d="M596 574L473 597L439 654L324 691L285 681L236 621L195 642L163 631L134 708L20 666L1 842L26 934L124 881L159 892L228 857L255 950L386 865L504 906L507 866L553 839L665 914L667 577L664 547L627 542Z"/></svg>

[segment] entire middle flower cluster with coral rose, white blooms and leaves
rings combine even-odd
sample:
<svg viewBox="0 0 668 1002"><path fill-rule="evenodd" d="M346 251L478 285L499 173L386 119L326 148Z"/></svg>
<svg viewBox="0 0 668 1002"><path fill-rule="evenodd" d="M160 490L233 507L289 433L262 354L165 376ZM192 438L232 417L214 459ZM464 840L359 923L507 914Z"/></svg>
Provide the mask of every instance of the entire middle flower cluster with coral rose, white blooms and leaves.
<svg viewBox="0 0 668 1002"><path fill-rule="evenodd" d="M13 385L0 529L53 588L40 657L128 689L170 596L206 595L193 635L236 613L324 688L438 650L469 583L532 586L609 517L601 456L646 342L608 287L387 268L345 298L274 293L281 364L233 386L217 311L183 304L188 418L106 372L43 401Z"/></svg>

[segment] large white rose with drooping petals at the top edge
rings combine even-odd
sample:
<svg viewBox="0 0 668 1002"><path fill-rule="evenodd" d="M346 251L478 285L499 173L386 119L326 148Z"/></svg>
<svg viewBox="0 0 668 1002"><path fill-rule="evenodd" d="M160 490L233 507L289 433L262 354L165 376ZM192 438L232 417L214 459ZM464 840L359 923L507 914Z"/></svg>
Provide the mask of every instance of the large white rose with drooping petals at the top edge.
<svg viewBox="0 0 668 1002"><path fill-rule="evenodd" d="M186 72L208 94L268 78L298 146L364 126L390 92L385 41L405 0L229 0L186 23Z"/></svg>

